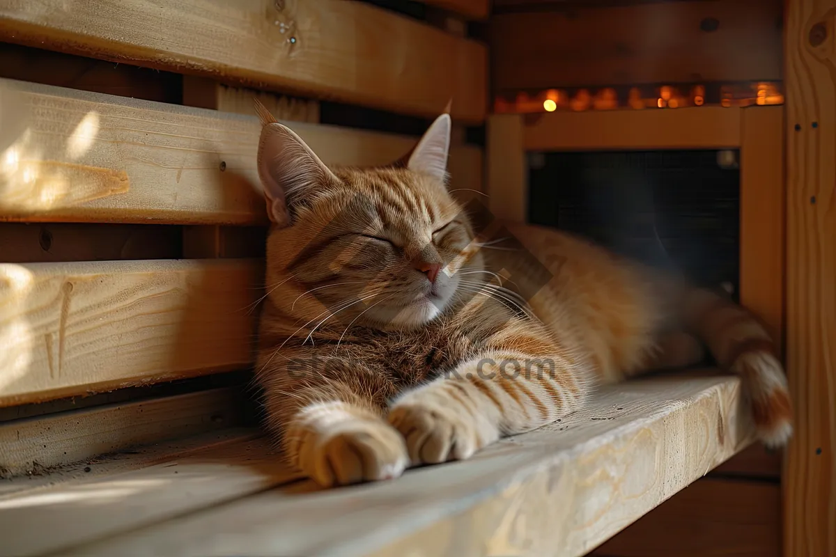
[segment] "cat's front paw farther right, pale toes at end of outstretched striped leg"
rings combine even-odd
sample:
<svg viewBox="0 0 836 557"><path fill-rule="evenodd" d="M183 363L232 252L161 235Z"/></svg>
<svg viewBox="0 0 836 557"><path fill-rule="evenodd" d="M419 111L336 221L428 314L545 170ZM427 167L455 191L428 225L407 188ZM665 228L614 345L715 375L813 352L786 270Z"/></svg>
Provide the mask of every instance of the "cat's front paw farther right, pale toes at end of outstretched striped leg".
<svg viewBox="0 0 836 557"><path fill-rule="evenodd" d="M404 436L413 464L463 460L498 438L496 428L472 418L455 404L443 408L400 403L392 408L388 419Z"/></svg>

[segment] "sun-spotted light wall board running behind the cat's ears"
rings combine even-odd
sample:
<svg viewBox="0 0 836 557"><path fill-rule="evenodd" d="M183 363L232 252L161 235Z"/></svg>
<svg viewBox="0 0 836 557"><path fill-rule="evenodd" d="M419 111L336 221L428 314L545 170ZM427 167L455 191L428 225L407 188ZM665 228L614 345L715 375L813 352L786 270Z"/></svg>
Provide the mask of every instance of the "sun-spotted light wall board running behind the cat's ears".
<svg viewBox="0 0 836 557"><path fill-rule="evenodd" d="M254 115L3 79L0 109L0 219L267 222L256 172L260 126ZM329 165L388 165L417 141L319 124L288 125ZM481 149L452 148L449 170L451 187L481 190Z"/></svg>

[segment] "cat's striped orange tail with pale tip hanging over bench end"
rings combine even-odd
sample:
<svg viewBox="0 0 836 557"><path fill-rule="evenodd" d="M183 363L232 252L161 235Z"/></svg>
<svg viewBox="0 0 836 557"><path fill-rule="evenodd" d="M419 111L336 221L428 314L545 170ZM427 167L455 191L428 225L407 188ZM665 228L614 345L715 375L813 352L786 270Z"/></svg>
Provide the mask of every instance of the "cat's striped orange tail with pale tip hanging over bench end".
<svg viewBox="0 0 836 557"><path fill-rule="evenodd" d="M766 327L742 306L711 291L691 290L686 303L689 325L711 355L742 378L758 438L770 448L785 445L793 434L793 408Z"/></svg>

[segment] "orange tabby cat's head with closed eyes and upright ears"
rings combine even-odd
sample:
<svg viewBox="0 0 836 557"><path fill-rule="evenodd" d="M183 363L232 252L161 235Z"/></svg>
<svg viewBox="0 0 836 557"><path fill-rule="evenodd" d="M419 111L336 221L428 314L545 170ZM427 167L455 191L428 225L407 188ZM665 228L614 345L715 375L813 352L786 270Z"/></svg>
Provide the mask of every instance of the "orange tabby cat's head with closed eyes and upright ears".
<svg viewBox="0 0 836 557"><path fill-rule="evenodd" d="M448 114L400 164L370 169L329 168L260 115L258 172L273 222L266 287L284 313L308 327L326 318L326 327L421 327L476 280L472 226L446 189Z"/></svg>

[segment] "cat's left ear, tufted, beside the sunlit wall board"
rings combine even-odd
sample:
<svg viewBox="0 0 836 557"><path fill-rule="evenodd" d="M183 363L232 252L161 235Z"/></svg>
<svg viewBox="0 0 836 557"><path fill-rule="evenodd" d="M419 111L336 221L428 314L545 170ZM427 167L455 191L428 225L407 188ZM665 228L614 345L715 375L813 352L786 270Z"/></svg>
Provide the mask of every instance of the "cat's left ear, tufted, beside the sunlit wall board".
<svg viewBox="0 0 836 557"><path fill-rule="evenodd" d="M263 104L255 102L262 123L258 177L270 220L286 226L292 220L296 201L337 178L293 129L279 124Z"/></svg>

